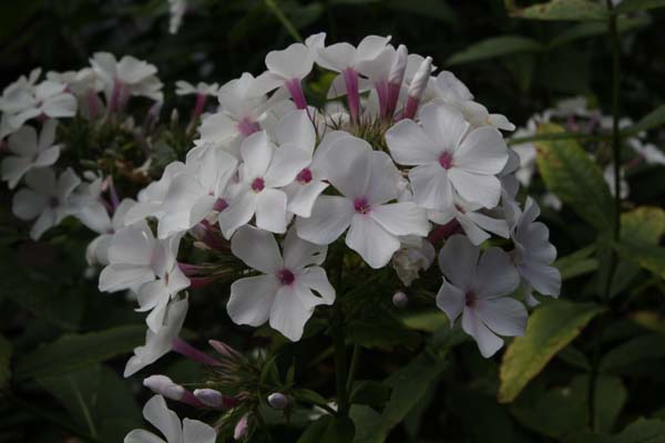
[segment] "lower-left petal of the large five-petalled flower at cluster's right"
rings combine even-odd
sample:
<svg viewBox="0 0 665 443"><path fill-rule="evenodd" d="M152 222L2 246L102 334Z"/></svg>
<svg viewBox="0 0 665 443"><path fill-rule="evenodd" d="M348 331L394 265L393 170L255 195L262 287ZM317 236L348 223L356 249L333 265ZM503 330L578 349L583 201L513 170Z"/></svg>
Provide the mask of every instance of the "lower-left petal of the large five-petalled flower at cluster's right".
<svg viewBox="0 0 665 443"><path fill-rule="evenodd" d="M450 171L438 164L415 167L409 172L413 187L413 198L428 209L449 210L452 208L453 193L449 179Z"/></svg>

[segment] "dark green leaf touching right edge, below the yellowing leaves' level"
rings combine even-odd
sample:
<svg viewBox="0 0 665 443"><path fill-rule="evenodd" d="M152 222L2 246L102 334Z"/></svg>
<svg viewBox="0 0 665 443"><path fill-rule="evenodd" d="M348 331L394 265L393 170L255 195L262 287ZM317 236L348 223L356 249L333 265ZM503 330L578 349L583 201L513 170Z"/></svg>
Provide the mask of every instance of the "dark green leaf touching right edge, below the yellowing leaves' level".
<svg viewBox="0 0 665 443"><path fill-rule="evenodd" d="M600 370L621 372L630 370L637 362L659 359L665 356L664 340L665 334L663 333L648 333L614 347L603 356Z"/></svg>

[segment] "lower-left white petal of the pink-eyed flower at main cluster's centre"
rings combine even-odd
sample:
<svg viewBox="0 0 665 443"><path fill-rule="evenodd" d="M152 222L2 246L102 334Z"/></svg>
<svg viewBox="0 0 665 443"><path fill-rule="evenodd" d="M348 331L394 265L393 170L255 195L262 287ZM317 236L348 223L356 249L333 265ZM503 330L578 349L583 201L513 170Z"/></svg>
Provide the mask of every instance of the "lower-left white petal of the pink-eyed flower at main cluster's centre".
<svg viewBox="0 0 665 443"><path fill-rule="evenodd" d="M309 218L296 218L298 236L317 245L329 245L349 227L354 203L344 197L321 195Z"/></svg>

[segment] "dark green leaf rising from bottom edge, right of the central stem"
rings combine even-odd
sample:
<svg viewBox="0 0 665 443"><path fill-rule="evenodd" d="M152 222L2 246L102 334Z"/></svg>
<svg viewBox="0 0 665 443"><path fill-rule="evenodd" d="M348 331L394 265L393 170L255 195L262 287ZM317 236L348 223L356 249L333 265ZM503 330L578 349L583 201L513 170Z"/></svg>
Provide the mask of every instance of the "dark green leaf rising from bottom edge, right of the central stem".
<svg viewBox="0 0 665 443"><path fill-rule="evenodd" d="M355 443L382 443L388 434L407 416L409 411L434 388L446 362L420 354L409 364L392 373L385 383L392 389L390 401L383 412L369 406L351 406L356 423Z"/></svg>

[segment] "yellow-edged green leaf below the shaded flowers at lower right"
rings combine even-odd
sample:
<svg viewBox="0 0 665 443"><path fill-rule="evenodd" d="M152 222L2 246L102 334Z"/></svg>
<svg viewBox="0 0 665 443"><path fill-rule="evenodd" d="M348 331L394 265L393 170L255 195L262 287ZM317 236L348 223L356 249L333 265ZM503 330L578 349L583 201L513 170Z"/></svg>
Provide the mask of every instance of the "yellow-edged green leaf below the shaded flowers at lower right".
<svg viewBox="0 0 665 443"><path fill-rule="evenodd" d="M503 354L499 402L513 401L526 383L602 311L597 305L565 300L539 306L529 319L524 336L515 338Z"/></svg>

